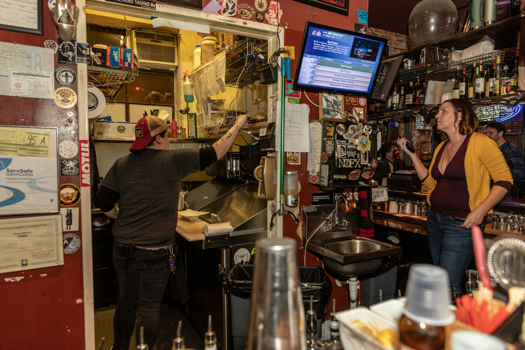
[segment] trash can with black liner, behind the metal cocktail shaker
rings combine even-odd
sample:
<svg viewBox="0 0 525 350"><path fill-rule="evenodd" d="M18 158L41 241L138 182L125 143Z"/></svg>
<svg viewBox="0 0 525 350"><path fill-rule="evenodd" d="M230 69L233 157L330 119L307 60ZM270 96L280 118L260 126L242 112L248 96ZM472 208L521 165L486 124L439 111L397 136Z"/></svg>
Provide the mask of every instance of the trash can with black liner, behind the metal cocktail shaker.
<svg viewBox="0 0 525 350"><path fill-rule="evenodd" d="M230 293L234 350L244 349L246 345L253 272L253 265L235 265L229 270L226 280L226 287ZM310 295L313 295L313 310L317 313L318 323L322 322L327 314L332 282L323 268L315 266L299 267L298 277L305 312L310 308Z"/></svg>

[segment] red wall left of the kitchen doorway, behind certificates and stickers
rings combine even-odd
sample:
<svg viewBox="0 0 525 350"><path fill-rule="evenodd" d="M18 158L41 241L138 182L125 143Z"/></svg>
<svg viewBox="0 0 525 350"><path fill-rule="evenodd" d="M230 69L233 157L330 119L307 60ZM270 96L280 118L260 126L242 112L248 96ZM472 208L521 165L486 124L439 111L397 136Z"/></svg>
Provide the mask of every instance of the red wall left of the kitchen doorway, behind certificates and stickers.
<svg viewBox="0 0 525 350"><path fill-rule="evenodd" d="M58 43L57 27L47 1L41 1L44 35L0 30L0 41L38 47L44 47L45 40ZM83 16L82 11L80 15ZM55 68L58 66L61 65L55 54ZM68 67L77 69L76 66ZM77 92L77 84L70 88ZM53 100L0 95L0 124L72 126L75 134L59 135L58 142L71 140L79 145L77 106L62 109ZM67 115L69 111L72 116ZM73 119L71 124L68 118ZM80 188L80 177L60 176L59 183L75 184ZM75 207L80 207L80 201ZM82 239L80 231L67 233ZM24 278L9 282L12 277ZM83 299L82 245L76 252L64 254L63 266L0 274L0 349L83 349L84 304L83 301L77 303Z"/></svg>

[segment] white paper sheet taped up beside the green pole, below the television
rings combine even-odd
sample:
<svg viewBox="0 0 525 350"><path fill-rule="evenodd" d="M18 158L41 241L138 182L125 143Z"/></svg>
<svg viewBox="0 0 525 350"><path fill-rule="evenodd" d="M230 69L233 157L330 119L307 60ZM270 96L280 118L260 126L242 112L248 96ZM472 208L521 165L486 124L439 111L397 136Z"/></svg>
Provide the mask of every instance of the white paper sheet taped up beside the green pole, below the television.
<svg viewBox="0 0 525 350"><path fill-rule="evenodd" d="M308 104L285 103L285 152L308 152L310 150L309 115Z"/></svg>

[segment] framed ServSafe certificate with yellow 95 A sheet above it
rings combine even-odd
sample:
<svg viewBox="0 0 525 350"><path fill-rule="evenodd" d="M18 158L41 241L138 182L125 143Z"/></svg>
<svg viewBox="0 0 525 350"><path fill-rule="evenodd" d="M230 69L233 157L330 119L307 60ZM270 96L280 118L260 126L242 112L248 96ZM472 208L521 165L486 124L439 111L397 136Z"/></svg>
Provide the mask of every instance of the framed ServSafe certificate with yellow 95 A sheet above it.
<svg viewBox="0 0 525 350"><path fill-rule="evenodd" d="M58 128L0 125L0 216L59 213Z"/></svg>

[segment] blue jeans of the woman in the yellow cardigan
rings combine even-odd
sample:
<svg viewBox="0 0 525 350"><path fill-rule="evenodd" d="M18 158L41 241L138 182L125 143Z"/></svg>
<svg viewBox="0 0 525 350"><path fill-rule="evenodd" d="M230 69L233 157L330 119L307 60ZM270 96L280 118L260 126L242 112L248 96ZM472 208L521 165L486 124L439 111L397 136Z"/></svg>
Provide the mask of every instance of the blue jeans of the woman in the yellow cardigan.
<svg viewBox="0 0 525 350"><path fill-rule="evenodd" d="M471 230L459 227L461 224L463 220L437 214L432 208L428 210L428 247L432 261L434 265L447 270L450 290L455 287L459 295L461 279L474 257ZM481 231L485 230L485 224L480 224L479 227Z"/></svg>

